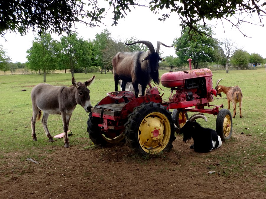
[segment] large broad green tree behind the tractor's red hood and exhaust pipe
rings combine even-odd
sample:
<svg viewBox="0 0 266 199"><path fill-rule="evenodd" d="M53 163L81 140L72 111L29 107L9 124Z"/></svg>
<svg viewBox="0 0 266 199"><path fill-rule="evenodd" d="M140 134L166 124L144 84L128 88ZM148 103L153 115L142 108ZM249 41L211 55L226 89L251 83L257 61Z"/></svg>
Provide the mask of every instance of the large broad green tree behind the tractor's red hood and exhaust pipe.
<svg viewBox="0 0 266 199"><path fill-rule="evenodd" d="M198 25L197 29L204 32L204 27L201 25ZM199 63L215 61L218 41L206 35L213 35L210 27L207 28L206 34L203 35L190 35L189 27L186 27L182 36L174 39L173 45L181 63L187 63L187 60L191 58L194 68L197 69Z"/></svg>

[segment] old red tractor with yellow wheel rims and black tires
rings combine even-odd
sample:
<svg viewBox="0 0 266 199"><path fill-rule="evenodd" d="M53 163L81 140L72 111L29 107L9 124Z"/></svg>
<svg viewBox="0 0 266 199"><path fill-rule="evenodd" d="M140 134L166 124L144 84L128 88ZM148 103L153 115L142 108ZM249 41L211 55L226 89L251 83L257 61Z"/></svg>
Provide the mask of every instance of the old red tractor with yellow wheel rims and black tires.
<svg viewBox="0 0 266 199"><path fill-rule="evenodd" d="M108 93L89 114L87 131L92 142L104 146L125 140L132 151L141 154L167 151L173 147L175 131L184 126L189 111L217 115L217 134L223 141L229 139L233 126L230 111L219 111L223 104L209 104L217 96L211 70L191 70L190 59L189 66L190 70L161 76L162 85L171 88L168 100L162 99L157 87L148 88L145 96L138 98L130 91ZM174 109L173 114L170 109Z"/></svg>

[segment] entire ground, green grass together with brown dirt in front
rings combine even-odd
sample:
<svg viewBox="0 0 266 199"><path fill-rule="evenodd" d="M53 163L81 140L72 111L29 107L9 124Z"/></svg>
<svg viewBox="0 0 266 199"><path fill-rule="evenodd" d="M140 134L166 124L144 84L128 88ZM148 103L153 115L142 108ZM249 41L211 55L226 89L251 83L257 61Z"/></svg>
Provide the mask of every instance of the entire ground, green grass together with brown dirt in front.
<svg viewBox="0 0 266 199"><path fill-rule="evenodd" d="M114 82L111 73L75 74L75 78L85 82L92 75L96 76L89 87L94 106L114 91ZM244 96L243 118L239 118L237 104L228 141L210 153L196 153L189 149L191 143L182 142L182 135L177 134L170 152L140 156L128 153L123 145L96 147L87 133L88 113L79 105L69 123L73 133L70 148L64 148L62 139L48 142L41 121L36 123L38 142L33 142L30 92L43 82L43 75L0 75L0 195L45 199L265 198L265 68L229 74L213 71L213 86L220 78L224 78L221 85L239 85ZM48 74L46 80L52 85L71 85L71 74ZM170 89L163 89L161 94L167 99ZM212 102L222 103L227 108L223 93ZM216 116L205 116L207 122L197 122L215 129ZM61 116L50 115L48 128L52 136L62 133ZM210 170L215 173L208 174Z"/></svg>

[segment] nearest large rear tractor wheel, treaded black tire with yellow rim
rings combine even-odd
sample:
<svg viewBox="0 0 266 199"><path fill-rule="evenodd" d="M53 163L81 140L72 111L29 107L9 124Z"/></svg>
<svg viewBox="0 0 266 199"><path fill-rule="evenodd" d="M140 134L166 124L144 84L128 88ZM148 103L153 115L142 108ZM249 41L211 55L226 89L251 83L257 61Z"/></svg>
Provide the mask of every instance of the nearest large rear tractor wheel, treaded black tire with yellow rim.
<svg viewBox="0 0 266 199"><path fill-rule="evenodd" d="M126 145L134 152L157 154L173 148L174 122L171 112L160 103L142 103L135 107L124 126Z"/></svg>

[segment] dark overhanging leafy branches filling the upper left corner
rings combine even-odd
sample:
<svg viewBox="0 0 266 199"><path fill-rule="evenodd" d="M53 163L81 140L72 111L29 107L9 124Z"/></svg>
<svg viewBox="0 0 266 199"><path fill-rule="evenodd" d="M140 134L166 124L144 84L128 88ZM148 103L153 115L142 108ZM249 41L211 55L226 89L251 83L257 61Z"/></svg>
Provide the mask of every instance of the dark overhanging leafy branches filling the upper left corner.
<svg viewBox="0 0 266 199"><path fill-rule="evenodd" d="M85 11L80 0L1 0L0 33L3 36L9 30L25 35L30 27L40 34L70 33L74 22L96 26L105 9L96 9L93 2L89 0L90 9ZM86 18L88 22L83 21Z"/></svg>

